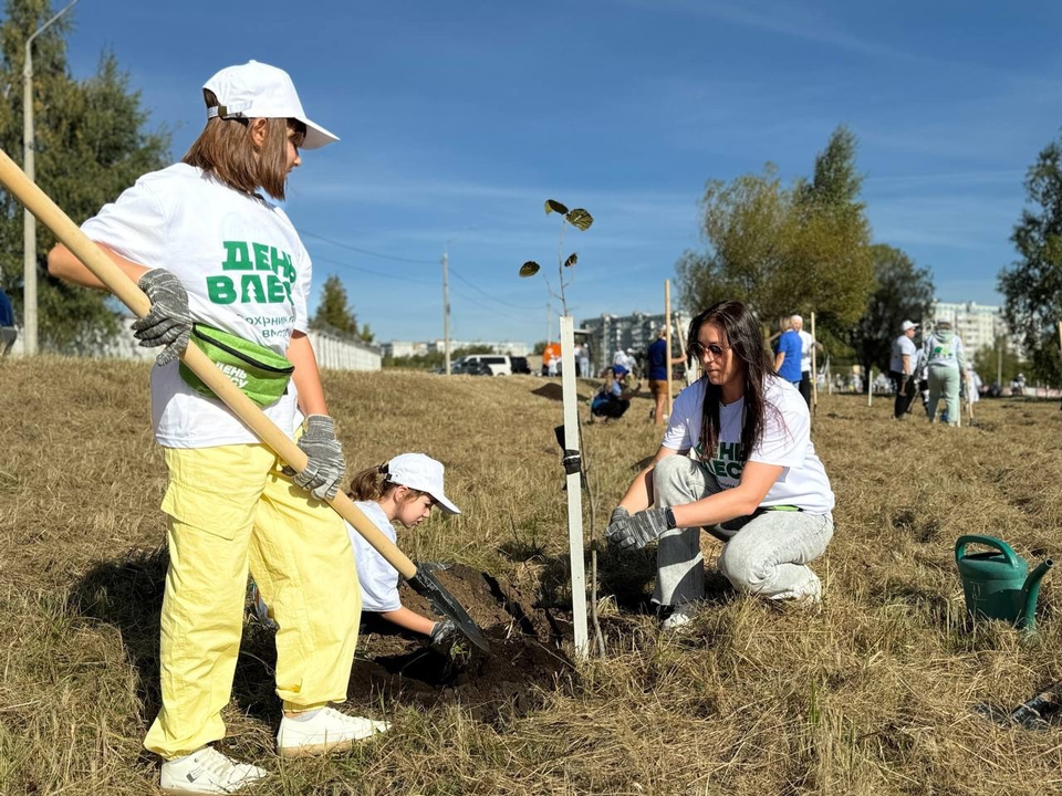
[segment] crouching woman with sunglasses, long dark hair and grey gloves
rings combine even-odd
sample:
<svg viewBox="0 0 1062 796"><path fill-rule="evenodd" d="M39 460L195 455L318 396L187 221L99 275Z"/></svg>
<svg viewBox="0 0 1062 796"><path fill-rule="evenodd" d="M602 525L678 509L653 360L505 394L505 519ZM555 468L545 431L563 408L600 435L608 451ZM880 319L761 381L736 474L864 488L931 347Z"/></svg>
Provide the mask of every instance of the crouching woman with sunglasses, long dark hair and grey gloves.
<svg viewBox="0 0 1062 796"><path fill-rule="evenodd" d="M689 325L704 375L684 389L659 451L605 532L621 549L657 542L653 601L664 627L704 598L700 531L725 543L719 570L740 591L816 603L808 564L833 535L833 492L810 439L811 417L779 378L752 312L720 302Z"/></svg>

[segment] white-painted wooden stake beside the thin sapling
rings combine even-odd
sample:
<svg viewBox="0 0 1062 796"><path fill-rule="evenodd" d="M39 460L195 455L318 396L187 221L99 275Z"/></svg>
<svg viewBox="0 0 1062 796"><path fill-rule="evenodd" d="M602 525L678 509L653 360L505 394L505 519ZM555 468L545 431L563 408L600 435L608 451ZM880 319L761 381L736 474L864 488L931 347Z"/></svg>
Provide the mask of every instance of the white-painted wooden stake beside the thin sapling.
<svg viewBox="0 0 1062 796"><path fill-rule="evenodd" d="M575 320L561 317L561 379L564 399L564 454L579 454L579 397L575 392ZM572 565L572 622L575 653L586 658L590 640L586 631L586 563L583 551L583 476L581 468L568 473L568 553Z"/></svg>

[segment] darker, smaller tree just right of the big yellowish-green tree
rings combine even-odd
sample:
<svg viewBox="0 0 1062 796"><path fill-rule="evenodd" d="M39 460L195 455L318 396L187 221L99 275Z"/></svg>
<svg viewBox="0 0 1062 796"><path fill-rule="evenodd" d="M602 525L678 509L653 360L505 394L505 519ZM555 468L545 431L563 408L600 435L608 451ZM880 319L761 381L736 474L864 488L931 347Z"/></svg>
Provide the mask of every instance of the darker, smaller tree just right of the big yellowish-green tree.
<svg viewBox="0 0 1062 796"><path fill-rule="evenodd" d="M874 263L874 291L866 312L852 327L851 345L856 359L867 373L871 366L888 369L893 341L904 321L922 322L933 306L933 275L918 268L899 249L884 243L871 247Z"/></svg>

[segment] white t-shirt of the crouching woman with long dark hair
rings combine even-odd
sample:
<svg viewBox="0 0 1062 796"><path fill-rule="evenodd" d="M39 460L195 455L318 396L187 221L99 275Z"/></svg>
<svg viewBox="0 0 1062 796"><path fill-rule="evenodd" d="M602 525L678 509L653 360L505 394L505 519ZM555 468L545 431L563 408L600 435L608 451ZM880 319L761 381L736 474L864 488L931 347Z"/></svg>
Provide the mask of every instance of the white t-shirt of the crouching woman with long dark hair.
<svg viewBox="0 0 1062 796"><path fill-rule="evenodd" d="M811 441L811 415L800 392L774 376L766 379L763 437L746 458L741 450L745 399L719 407L719 441L706 455L700 450L700 426L707 383L698 379L678 394L664 433L663 446L693 451L723 489L741 480L745 461L784 468L760 505L793 505L810 514L833 510L833 490Z"/></svg>

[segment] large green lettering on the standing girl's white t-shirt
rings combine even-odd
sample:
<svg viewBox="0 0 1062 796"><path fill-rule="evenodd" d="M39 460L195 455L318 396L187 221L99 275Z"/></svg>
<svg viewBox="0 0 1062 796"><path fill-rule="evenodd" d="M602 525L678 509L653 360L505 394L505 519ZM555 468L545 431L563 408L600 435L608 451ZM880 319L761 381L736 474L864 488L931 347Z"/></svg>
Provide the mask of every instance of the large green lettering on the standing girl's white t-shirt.
<svg viewBox="0 0 1062 796"><path fill-rule="evenodd" d="M222 241L222 271L242 274L207 276L207 295L215 304L291 304L295 269L291 254L266 243Z"/></svg>

